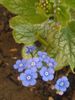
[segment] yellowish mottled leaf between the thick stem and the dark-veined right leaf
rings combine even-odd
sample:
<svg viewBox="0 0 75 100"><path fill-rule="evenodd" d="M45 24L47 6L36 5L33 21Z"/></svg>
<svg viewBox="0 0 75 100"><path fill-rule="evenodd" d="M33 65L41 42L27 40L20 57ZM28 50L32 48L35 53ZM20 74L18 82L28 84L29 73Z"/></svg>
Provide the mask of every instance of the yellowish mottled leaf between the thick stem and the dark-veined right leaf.
<svg viewBox="0 0 75 100"><path fill-rule="evenodd" d="M67 58L65 55L63 55L63 51L60 51L60 48L58 46L58 38L56 35L58 35L58 31L56 30L56 24L53 22L50 26L48 23L44 26L44 32L43 36L46 35L47 38L47 47L46 51L48 52L49 56L54 58L57 62L57 66L55 70L60 70L63 67L68 65ZM46 34L45 34L46 33Z"/></svg>

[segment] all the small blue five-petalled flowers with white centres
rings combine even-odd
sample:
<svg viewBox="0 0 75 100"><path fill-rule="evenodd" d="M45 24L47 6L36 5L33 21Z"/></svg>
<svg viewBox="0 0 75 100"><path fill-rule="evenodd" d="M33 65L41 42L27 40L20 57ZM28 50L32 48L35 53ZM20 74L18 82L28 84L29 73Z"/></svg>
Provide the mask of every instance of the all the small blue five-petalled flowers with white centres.
<svg viewBox="0 0 75 100"><path fill-rule="evenodd" d="M34 50L34 46L27 47L26 53L32 53ZM22 82L22 85L28 87L37 83L38 74L43 81L52 81L56 65L56 61L49 57L46 52L38 51L36 57L34 55L34 57L29 59L17 60L13 67L20 72L19 80ZM69 81L67 77L64 76L56 81L55 89L57 91L65 92L68 87Z"/></svg>

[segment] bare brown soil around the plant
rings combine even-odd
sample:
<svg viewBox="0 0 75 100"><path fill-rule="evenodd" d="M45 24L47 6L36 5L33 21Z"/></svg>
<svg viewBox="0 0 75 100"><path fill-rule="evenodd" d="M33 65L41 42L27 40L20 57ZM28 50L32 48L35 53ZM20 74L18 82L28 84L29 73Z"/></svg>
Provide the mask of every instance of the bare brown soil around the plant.
<svg viewBox="0 0 75 100"><path fill-rule="evenodd" d="M33 88L23 87L17 80L13 64L21 58L22 44L15 43L9 19L14 15L0 5L0 100L75 100L75 76L71 73L68 91L59 96L48 91L47 84L39 82Z"/></svg>

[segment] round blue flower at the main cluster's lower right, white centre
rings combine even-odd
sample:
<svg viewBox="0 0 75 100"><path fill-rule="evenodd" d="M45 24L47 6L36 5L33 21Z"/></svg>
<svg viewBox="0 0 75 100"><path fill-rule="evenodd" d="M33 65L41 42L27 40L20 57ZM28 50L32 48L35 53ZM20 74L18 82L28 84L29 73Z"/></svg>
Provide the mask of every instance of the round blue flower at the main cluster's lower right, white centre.
<svg viewBox="0 0 75 100"><path fill-rule="evenodd" d="M42 76L42 79L44 81L49 81L49 80L53 80L54 78L54 69L49 67L42 67L42 69L40 70L40 75Z"/></svg>

